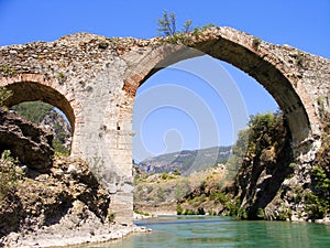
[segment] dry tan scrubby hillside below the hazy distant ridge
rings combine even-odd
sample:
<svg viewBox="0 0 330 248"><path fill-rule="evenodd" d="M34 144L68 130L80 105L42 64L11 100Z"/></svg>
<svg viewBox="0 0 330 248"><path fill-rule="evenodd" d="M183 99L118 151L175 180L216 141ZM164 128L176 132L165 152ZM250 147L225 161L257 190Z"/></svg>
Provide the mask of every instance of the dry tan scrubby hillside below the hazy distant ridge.
<svg viewBox="0 0 330 248"><path fill-rule="evenodd" d="M226 183L226 168L218 165L194 173L189 176L175 174L153 174L134 176L134 209L136 213L151 215L174 215L177 213L177 204L183 203L185 213L196 213L198 207L205 212L221 209L221 206L212 200L204 201L205 195L198 200L187 201L187 197L200 196L204 192L217 191L219 185ZM202 193L200 191L202 188ZM217 196L217 194L213 194ZM198 204L198 207L195 205ZM183 209L183 211L184 211Z"/></svg>

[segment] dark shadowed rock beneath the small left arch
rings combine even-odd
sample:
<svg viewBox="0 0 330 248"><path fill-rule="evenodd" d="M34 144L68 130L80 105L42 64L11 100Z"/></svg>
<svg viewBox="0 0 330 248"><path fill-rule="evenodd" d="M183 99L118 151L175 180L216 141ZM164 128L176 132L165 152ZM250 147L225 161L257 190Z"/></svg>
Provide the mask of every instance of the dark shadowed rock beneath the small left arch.
<svg viewBox="0 0 330 248"><path fill-rule="evenodd" d="M11 150L31 169L46 171L52 164L53 136L21 117L0 109L0 152Z"/></svg>

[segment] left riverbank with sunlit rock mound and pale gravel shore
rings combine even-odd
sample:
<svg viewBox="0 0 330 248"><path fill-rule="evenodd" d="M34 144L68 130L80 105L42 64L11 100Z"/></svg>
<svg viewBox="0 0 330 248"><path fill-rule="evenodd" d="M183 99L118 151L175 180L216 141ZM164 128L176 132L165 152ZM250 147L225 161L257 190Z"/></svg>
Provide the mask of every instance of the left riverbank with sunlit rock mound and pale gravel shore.
<svg viewBox="0 0 330 248"><path fill-rule="evenodd" d="M0 247L64 247L148 231L116 222L111 195L84 161L56 159L43 173L0 162L20 172L0 197Z"/></svg>

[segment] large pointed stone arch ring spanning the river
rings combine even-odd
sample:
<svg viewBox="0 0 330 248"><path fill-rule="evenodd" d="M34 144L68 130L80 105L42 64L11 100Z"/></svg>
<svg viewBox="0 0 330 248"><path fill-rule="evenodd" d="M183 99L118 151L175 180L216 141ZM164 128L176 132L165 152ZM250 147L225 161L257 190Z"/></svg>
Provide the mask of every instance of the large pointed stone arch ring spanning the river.
<svg viewBox="0 0 330 248"><path fill-rule="evenodd" d="M270 50L268 43L257 37L232 29L218 31L201 39L187 35L191 39L187 45L166 44L153 50L139 62L133 75L129 71L125 82L129 95L134 95L134 90L157 71L208 54L249 74L273 96L288 120L294 149L299 155L299 147L309 144L310 139L320 134L314 103L306 88L298 83L298 77L290 72L290 66L301 66L297 64L301 63L298 60L302 55L296 51L286 62Z"/></svg>

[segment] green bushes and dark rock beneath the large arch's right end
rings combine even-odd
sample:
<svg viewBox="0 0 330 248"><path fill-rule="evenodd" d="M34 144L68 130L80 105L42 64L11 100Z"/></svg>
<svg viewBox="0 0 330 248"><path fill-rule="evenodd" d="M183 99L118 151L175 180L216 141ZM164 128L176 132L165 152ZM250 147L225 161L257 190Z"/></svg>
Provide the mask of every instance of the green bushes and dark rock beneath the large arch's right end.
<svg viewBox="0 0 330 248"><path fill-rule="evenodd" d="M222 215L241 219L267 218L264 206L280 190L278 182L290 175L296 166L292 162L290 134L287 130L280 112L251 116L248 128L239 133L232 157L226 164L226 177L234 179L234 183L221 183L219 187L222 188L218 192L218 192L210 195L215 203L224 206ZM256 188L263 191L266 197L257 194ZM298 200L301 193L295 194L295 197ZM283 206L280 213L280 218L287 218L292 212Z"/></svg>

